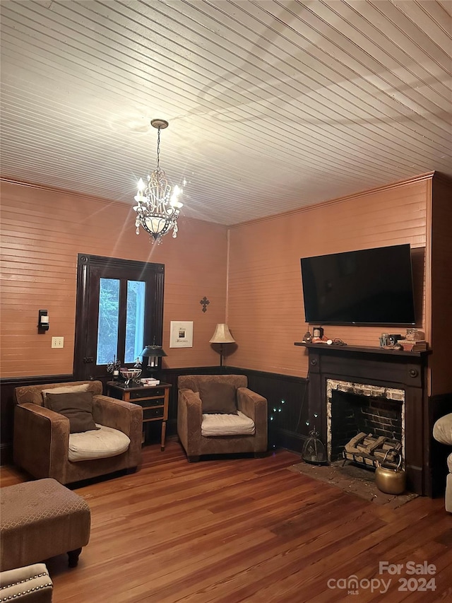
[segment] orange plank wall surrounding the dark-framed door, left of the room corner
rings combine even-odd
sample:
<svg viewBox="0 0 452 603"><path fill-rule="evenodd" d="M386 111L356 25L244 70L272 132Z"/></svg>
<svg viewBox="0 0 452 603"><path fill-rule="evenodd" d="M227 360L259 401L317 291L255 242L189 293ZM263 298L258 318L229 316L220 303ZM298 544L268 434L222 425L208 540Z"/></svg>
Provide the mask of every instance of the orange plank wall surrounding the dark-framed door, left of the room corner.
<svg viewBox="0 0 452 603"><path fill-rule="evenodd" d="M135 233L132 198L125 204L2 182L1 203L1 377L72 373L78 253L165 264L164 365L218 364L208 341L225 320L226 228L182 218L177 239L152 245ZM44 334L40 309L49 312ZM192 348L169 348L171 320L194 321ZM51 348L52 336L64 336L64 349Z"/></svg>

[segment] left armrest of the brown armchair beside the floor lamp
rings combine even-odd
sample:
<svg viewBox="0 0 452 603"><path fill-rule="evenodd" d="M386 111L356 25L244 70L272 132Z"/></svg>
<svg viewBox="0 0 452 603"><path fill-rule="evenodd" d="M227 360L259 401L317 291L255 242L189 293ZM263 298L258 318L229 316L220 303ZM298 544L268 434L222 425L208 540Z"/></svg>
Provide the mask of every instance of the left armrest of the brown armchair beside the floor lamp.
<svg viewBox="0 0 452 603"><path fill-rule="evenodd" d="M177 394L177 433L189 457L201 450L201 398L193 390L179 390Z"/></svg>

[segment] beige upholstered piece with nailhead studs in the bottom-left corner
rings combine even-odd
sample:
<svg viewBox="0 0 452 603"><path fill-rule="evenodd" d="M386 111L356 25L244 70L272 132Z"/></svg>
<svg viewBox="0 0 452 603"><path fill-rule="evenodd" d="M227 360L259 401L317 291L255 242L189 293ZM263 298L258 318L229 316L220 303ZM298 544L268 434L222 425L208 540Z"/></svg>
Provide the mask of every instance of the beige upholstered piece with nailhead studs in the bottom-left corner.
<svg viewBox="0 0 452 603"><path fill-rule="evenodd" d="M1 601L51 602L52 588L52 580L44 563L0 573Z"/></svg>

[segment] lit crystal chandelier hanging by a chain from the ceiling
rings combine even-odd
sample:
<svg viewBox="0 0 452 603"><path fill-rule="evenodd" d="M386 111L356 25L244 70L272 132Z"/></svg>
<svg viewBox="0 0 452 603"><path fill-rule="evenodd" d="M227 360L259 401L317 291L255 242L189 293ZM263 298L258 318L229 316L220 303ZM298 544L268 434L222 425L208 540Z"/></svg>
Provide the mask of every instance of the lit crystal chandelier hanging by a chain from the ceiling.
<svg viewBox="0 0 452 603"><path fill-rule="evenodd" d="M149 233L152 242L161 242L162 236L172 229L173 238L177 237L177 218L182 207L179 194L182 189L177 185L172 189L167 181L165 172L160 169L160 130L168 127L165 119L153 119L150 125L157 128L157 167L148 175L148 182L138 181L136 206L136 234L141 228Z"/></svg>

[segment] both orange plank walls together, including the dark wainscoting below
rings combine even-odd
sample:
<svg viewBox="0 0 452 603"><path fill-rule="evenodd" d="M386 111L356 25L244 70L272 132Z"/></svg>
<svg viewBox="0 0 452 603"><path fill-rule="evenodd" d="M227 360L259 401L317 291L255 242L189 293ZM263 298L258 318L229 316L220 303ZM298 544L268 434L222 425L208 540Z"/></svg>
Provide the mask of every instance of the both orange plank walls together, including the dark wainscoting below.
<svg viewBox="0 0 452 603"><path fill-rule="evenodd" d="M215 324L226 320L237 345L225 346L225 370L245 373L251 389L268 397L270 442L301 451L308 431L307 354L294 342L308 325L299 259L364 247L412 246L417 326L434 346L432 393L452 392L451 190L450 180L427 174L229 232L182 218L177 239L167 235L162 245L151 245L147 235L135 234L132 202L4 182L1 447L11 445L12 388L31 384L33 375L36 382L49 382L46 375L51 381L71 376L79 252L165 264L163 378L174 385L169 431L175 428L177 376L218 371L218 353L208 340ZM210 304L204 313L199 302L205 295ZM40 308L49 310L51 326L44 335L37 333ZM171 320L194 321L193 348L169 348ZM328 327L326 334L374 346L381 330ZM52 336L64 336L64 349L50 348ZM432 417L425 420L432 423Z"/></svg>

